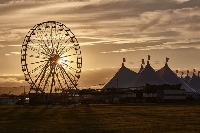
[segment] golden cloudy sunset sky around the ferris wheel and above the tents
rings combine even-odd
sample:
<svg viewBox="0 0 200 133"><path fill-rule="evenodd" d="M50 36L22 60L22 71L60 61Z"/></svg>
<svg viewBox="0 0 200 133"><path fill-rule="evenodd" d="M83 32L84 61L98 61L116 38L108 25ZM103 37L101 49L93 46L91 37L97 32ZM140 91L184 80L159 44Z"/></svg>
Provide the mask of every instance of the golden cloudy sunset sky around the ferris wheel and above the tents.
<svg viewBox="0 0 200 133"><path fill-rule="evenodd" d="M151 56L156 70L200 68L199 0L0 0L0 87L27 85L21 45L45 21L65 24L81 46L79 87L99 87L121 67L138 71ZM100 86L101 87L101 86Z"/></svg>

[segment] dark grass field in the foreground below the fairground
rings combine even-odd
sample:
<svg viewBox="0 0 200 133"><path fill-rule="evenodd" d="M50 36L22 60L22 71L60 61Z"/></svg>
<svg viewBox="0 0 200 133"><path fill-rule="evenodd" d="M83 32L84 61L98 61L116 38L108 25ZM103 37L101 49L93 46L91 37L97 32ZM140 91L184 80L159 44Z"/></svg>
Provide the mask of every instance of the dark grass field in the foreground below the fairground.
<svg viewBox="0 0 200 133"><path fill-rule="evenodd" d="M0 132L199 133L200 105L0 106Z"/></svg>

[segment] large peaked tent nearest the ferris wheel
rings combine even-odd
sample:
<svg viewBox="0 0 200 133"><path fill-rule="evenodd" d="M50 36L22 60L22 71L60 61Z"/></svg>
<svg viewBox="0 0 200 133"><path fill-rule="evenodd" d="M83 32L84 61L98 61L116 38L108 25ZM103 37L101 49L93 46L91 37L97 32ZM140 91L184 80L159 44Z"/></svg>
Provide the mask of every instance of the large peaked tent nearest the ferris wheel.
<svg viewBox="0 0 200 133"><path fill-rule="evenodd" d="M115 74L115 76L103 87L103 89L106 88L123 88L125 84L129 83L131 80L133 80L138 74L124 66L124 63L122 63L121 68L119 71ZM117 80L118 80L118 86L117 86Z"/></svg>

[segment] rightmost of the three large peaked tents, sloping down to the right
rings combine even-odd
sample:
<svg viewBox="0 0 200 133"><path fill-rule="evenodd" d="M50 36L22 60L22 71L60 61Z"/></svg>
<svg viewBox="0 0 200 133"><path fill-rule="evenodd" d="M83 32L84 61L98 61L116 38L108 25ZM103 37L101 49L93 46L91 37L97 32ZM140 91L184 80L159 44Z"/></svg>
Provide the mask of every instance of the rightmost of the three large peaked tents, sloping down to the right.
<svg viewBox="0 0 200 133"><path fill-rule="evenodd" d="M194 89L189 87L183 80L181 80L166 63L163 68L157 71L158 75L171 85L182 84L181 89L185 89L186 92L195 92Z"/></svg>

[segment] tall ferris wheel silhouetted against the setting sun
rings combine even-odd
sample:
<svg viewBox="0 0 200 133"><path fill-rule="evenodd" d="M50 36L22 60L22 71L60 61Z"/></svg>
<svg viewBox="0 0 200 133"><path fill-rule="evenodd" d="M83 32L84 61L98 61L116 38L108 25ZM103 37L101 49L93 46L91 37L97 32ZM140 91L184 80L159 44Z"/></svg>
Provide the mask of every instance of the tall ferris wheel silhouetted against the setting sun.
<svg viewBox="0 0 200 133"><path fill-rule="evenodd" d="M64 24L39 23L24 38L21 66L31 90L59 93L77 89L82 68L80 45Z"/></svg>

